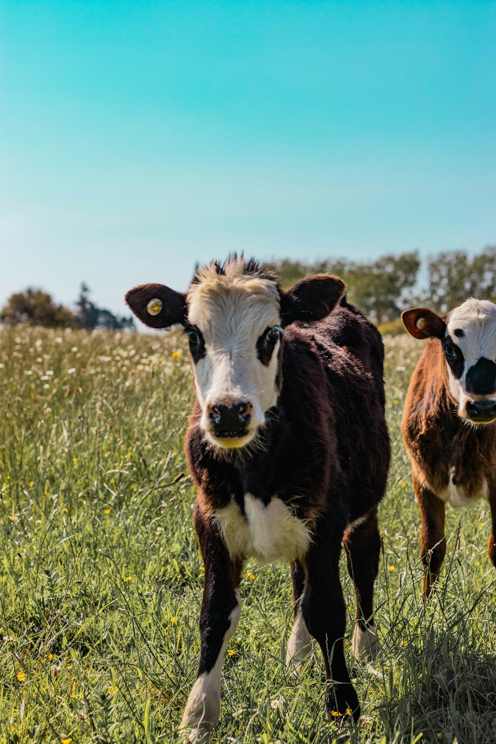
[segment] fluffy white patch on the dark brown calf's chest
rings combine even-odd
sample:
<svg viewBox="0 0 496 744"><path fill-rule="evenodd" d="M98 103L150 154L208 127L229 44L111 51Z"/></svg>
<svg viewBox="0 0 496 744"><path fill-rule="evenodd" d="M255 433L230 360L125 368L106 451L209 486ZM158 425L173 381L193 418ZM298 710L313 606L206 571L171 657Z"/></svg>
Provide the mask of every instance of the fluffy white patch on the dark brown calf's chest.
<svg viewBox="0 0 496 744"><path fill-rule="evenodd" d="M306 554L310 531L280 498L272 498L265 506L259 498L247 493L245 514L236 501L216 512L215 519L231 555L271 563Z"/></svg>

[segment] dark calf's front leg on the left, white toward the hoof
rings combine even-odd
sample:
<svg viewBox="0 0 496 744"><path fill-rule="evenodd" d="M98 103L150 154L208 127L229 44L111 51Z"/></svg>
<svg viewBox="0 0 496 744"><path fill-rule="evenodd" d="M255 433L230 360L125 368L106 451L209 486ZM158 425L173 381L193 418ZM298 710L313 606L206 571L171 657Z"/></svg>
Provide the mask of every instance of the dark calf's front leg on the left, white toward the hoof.
<svg viewBox="0 0 496 744"><path fill-rule="evenodd" d="M241 613L242 561L231 557L211 516L195 507L194 523L204 562L198 677L187 699L181 728L189 740L206 740L219 720L220 678L225 650Z"/></svg>

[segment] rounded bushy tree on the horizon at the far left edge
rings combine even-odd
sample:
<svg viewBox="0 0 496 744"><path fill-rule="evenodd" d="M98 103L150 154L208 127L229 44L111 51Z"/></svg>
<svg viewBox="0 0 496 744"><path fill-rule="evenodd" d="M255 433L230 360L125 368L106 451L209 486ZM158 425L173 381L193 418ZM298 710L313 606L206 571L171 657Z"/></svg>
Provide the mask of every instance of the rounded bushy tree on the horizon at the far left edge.
<svg viewBox="0 0 496 744"><path fill-rule="evenodd" d="M9 325L28 323L48 328L77 326L77 318L70 310L55 304L48 292L33 287L10 295L0 312L0 321Z"/></svg>

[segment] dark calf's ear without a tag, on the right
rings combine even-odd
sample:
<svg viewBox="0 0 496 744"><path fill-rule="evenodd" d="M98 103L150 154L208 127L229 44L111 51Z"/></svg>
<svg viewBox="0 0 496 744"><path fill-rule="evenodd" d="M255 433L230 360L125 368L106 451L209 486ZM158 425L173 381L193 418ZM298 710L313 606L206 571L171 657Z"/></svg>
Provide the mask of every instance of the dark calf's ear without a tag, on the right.
<svg viewBox="0 0 496 744"><path fill-rule="evenodd" d="M281 322L320 321L344 296L346 284L330 274L302 279L281 295Z"/></svg>

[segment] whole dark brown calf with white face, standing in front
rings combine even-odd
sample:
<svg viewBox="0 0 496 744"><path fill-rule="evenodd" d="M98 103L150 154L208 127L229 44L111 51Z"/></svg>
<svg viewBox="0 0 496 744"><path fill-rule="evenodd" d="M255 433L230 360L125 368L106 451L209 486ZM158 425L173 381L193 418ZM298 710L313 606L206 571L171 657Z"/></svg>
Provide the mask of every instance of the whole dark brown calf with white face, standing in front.
<svg viewBox="0 0 496 744"><path fill-rule="evenodd" d="M339 556L344 539L357 600L353 648L370 656L378 650L377 507L390 443L381 336L344 290L340 279L318 275L283 291L256 261L233 256L197 269L187 294L148 284L126 295L147 325L183 325L193 359L197 398L185 449L205 574L199 672L181 722L191 740L219 719L248 557L291 563L289 661L298 667L315 638L326 710L358 719Z"/></svg>

